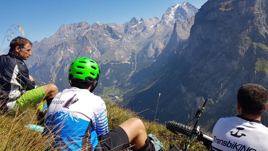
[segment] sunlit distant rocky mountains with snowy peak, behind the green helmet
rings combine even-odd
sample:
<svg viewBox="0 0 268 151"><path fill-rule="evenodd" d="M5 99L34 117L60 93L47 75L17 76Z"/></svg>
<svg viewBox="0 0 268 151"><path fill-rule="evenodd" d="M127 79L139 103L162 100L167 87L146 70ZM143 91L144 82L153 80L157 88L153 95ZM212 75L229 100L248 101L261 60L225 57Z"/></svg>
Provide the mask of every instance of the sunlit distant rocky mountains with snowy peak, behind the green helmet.
<svg viewBox="0 0 268 151"><path fill-rule="evenodd" d="M172 12L169 24L165 25L160 23L166 22L165 15L161 20L152 17L138 21L133 17L124 24L61 25L54 35L33 42L33 55L27 61L29 72L35 80L46 84L52 82L62 89L69 84L67 75L71 62L78 57L89 57L97 61L101 69L99 85L94 92L101 93L103 87L110 86L125 89L133 73L150 66L161 54L175 21L184 21L185 16L192 17L198 11L189 3L169 9L172 8L181 11Z"/></svg>

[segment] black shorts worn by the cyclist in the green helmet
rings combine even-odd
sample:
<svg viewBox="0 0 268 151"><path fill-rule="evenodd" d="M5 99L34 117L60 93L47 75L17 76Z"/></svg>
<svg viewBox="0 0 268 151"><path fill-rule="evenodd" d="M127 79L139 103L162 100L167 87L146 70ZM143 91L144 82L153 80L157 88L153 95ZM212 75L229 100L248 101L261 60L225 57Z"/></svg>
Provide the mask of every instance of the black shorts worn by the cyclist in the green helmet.
<svg viewBox="0 0 268 151"><path fill-rule="evenodd" d="M129 139L121 127L116 127L98 138L98 145L94 151L120 151L129 148Z"/></svg>

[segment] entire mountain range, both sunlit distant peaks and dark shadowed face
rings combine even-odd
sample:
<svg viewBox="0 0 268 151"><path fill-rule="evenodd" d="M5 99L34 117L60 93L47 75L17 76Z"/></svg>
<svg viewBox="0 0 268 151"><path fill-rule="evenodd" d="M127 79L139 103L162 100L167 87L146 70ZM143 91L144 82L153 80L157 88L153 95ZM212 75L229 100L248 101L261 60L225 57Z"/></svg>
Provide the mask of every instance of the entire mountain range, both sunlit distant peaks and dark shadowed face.
<svg viewBox="0 0 268 151"><path fill-rule="evenodd" d="M62 89L70 63L90 57L101 69L94 93L118 88L122 104L144 118L180 123L209 98L203 121L213 125L236 114L241 85L268 88L267 6L266 0L208 0L198 10L184 2L161 19L62 25L33 43L27 65L36 80ZM268 125L267 113L262 122Z"/></svg>

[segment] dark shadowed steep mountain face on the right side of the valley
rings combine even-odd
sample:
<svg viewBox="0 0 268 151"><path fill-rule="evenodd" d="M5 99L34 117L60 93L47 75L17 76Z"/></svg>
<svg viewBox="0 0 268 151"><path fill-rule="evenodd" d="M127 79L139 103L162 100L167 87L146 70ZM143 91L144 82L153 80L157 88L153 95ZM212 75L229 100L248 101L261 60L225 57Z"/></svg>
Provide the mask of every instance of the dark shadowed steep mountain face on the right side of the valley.
<svg viewBox="0 0 268 151"><path fill-rule="evenodd" d="M233 114L241 85L268 88L267 12L266 0L207 1L195 15L189 38L182 40L178 28L184 26L175 24L155 63L131 77L134 89L125 94L129 106L151 109L140 114L154 120L161 93L156 114L161 122L186 123L206 98L205 119Z"/></svg>

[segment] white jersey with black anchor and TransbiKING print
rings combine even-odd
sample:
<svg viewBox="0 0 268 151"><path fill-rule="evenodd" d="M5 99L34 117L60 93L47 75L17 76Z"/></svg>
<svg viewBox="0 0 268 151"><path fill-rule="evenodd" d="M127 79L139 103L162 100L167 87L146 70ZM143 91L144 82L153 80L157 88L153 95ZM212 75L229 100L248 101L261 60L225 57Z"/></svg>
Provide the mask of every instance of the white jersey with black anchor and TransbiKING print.
<svg viewBox="0 0 268 151"><path fill-rule="evenodd" d="M216 151L268 150L268 128L243 116L220 118L213 128L212 149Z"/></svg>

